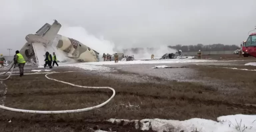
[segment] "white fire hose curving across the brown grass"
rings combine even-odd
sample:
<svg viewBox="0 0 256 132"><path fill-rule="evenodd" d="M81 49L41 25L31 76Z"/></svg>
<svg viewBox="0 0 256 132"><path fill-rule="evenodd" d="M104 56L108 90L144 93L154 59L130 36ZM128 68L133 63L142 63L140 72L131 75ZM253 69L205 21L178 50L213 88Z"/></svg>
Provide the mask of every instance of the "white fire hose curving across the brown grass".
<svg viewBox="0 0 256 132"><path fill-rule="evenodd" d="M19 75L19 74L12 74L13 72L13 65L10 67L10 69L12 68L11 70L11 73L10 75L5 78L5 79L0 79L0 80L7 80L11 75ZM9 70L10 70L9 69ZM1 70L1 69L0 69ZM9 71L8 70L8 71ZM1 74L1 75L4 75L6 74L8 71L6 71L5 73ZM43 70L42 70L43 71ZM66 72L75 72L75 71L66 71ZM97 106L93 106L93 107L89 107L89 108L83 108L83 109L74 109L74 110L58 110L58 111L40 111L40 110L25 110L25 109L15 109L15 108L10 108L10 107L6 107L6 106L2 106L0 105L0 109L5 109L5 110L9 110L9 111L14 111L14 112L22 112L22 113L38 113L38 114L65 114L65 113L79 113L79 112L85 112L85 111L90 111L90 110L94 110L94 109L98 109L104 105L106 105L112 98L114 98L115 94L116 94L116 91L115 89L111 88L111 87L92 87L92 86L81 86L81 85L75 85L75 84L72 84L72 83L69 83L69 82L65 82L65 81L60 81L60 80L57 80L57 79L53 79L53 78L50 78L48 77L47 75L49 74L53 74L53 73L66 73L66 72L55 72L55 71L51 71L51 72L35 72L35 73L25 73L24 75L29 75L29 74L46 74L45 77L47 79L50 79L50 80L54 80L54 81L57 81L57 82L61 82L61 83L65 83L65 84L69 84L71 86L76 86L76 87L82 87L82 88L94 88L94 89L100 89L100 88L103 88L103 89L110 89L113 91L113 94L112 96L105 102L103 102L102 104L99 104Z"/></svg>

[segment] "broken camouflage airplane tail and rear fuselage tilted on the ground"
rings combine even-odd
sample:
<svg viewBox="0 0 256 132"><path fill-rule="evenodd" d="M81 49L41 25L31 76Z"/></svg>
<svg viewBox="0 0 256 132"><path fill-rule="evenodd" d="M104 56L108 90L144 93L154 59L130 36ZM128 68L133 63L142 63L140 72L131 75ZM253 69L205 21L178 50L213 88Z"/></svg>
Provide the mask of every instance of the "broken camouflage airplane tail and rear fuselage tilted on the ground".
<svg viewBox="0 0 256 132"><path fill-rule="evenodd" d="M46 23L36 34L26 36L27 43L19 51L25 61L36 58L38 67L44 65L44 55L55 52L60 62L75 60L77 62L99 62L99 53L77 40L59 35L61 24L54 20L52 25ZM13 61L9 63L9 66Z"/></svg>

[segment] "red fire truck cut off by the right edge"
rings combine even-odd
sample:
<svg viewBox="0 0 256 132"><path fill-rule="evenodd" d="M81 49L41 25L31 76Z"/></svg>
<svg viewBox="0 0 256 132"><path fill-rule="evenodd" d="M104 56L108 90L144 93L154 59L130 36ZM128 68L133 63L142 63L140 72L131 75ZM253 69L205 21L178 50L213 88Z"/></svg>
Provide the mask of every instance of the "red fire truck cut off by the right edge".
<svg viewBox="0 0 256 132"><path fill-rule="evenodd" d="M253 56L256 58L256 33L252 33L249 35L246 41L241 43L243 56Z"/></svg>

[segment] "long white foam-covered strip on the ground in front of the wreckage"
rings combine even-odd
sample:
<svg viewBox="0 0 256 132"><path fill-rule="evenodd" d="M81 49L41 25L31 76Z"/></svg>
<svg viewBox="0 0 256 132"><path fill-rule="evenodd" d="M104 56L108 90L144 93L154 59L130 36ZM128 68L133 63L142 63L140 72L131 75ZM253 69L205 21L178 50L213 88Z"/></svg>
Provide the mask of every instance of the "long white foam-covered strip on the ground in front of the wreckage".
<svg viewBox="0 0 256 132"><path fill-rule="evenodd" d="M103 65L132 65L132 64L175 64L175 63L194 63L194 62L215 62L213 60L191 60L191 59L166 59L166 60L152 60L152 61L119 61L115 63L114 61L110 62L88 62L88 63L62 63L59 66L70 66L70 67L79 67L86 70L96 70L96 71L113 71L111 68Z"/></svg>

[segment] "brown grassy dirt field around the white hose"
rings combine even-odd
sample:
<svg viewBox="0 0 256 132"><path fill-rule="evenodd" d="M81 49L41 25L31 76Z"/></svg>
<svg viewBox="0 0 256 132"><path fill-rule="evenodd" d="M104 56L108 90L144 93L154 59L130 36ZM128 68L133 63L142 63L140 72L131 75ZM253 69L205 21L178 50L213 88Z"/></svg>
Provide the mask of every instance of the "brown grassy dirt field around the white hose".
<svg viewBox="0 0 256 132"><path fill-rule="evenodd" d="M232 57L227 60L231 60ZM135 129L133 124L111 124L104 120L110 118L216 120L223 115L256 113L256 79L254 77L256 71L222 68L256 69L254 66L204 66L201 64L187 66L183 69L190 72L183 75L185 78L183 81L153 74L140 76L137 72L122 69L110 73L90 72L77 68L53 69L77 72L48 75L51 78L84 86L109 86L116 90L116 95L102 108L82 113L45 115L0 110L0 130L3 132L88 132L93 131L92 128L106 131L111 128L112 131L118 132L139 132L140 130ZM182 68L176 69L182 70ZM164 70L167 72L169 69ZM127 81L123 79L124 76L139 81ZM6 86L7 92L4 94ZM29 110L80 109L98 105L112 95L111 90L85 89L49 80L45 74L23 77L14 75L3 81L0 88L1 105ZM129 103L134 106L130 106ZM9 120L11 122L8 122Z"/></svg>

